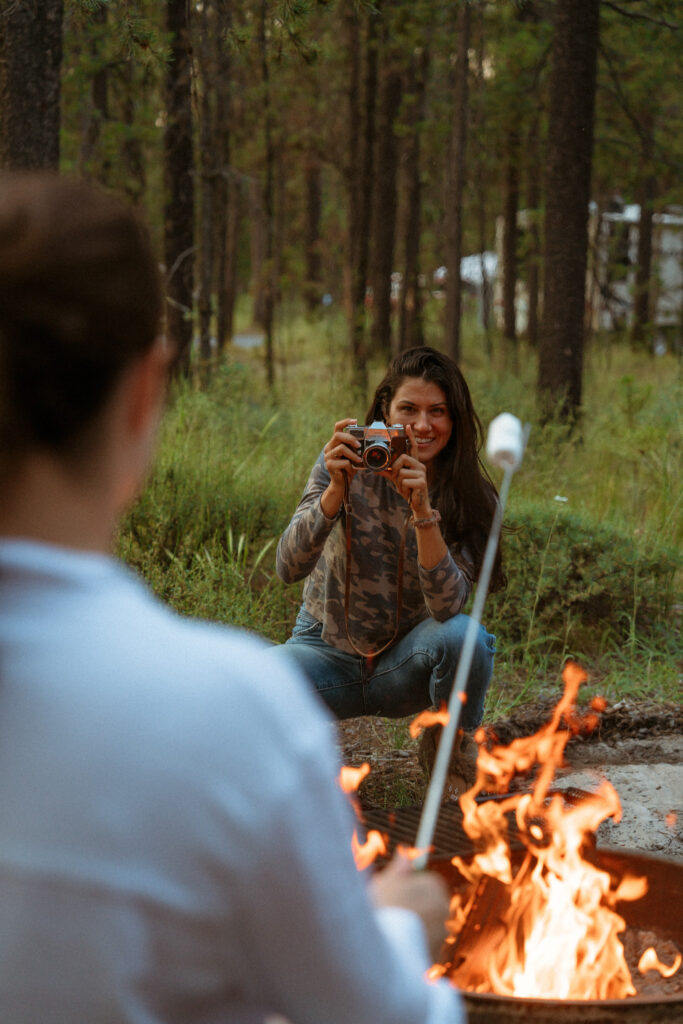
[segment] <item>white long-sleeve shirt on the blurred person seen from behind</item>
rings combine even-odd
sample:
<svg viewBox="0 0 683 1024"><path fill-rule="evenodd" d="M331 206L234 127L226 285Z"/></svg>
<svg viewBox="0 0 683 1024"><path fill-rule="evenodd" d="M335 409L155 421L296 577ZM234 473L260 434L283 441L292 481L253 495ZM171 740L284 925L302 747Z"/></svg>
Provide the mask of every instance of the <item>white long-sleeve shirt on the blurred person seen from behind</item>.
<svg viewBox="0 0 683 1024"><path fill-rule="evenodd" d="M0 543L0 1020L464 1020L417 918L372 909L331 724L261 649Z"/></svg>

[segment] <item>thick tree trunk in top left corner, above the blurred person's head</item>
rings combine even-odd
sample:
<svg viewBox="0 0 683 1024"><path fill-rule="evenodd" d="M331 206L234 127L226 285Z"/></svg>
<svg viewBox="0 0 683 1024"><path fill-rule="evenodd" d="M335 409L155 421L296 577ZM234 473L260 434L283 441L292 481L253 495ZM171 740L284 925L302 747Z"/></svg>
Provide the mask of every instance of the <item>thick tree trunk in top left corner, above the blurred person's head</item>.
<svg viewBox="0 0 683 1024"><path fill-rule="evenodd" d="M24 0L0 11L0 167L59 166L63 0Z"/></svg>

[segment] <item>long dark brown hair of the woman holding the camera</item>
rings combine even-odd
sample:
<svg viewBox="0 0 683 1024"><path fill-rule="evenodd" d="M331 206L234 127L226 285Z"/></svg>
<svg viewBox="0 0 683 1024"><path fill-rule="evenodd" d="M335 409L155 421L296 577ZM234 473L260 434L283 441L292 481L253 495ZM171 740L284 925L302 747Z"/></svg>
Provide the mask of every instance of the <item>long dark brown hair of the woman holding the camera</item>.
<svg viewBox="0 0 683 1024"><path fill-rule="evenodd" d="M435 460L430 501L441 513L446 544L468 548L478 577L498 492L479 458L483 430L458 366L447 355L427 345L401 352L389 364L378 384L366 422L386 420L396 391L409 377L437 384L446 397L453 432ZM505 584L499 547L492 590L500 590Z"/></svg>

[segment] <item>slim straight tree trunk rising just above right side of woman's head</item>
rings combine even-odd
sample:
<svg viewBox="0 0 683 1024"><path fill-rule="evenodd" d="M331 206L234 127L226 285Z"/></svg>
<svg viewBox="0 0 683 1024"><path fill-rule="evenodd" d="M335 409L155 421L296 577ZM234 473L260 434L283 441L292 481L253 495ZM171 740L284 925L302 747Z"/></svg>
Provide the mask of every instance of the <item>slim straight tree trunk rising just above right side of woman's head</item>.
<svg viewBox="0 0 683 1024"><path fill-rule="evenodd" d="M463 190L465 187L467 145L469 37L470 8L468 3L464 3L460 7L458 15L458 59L445 189L445 266L447 271L445 283L445 349L456 362L460 360L460 321L462 315L460 263L463 255Z"/></svg>

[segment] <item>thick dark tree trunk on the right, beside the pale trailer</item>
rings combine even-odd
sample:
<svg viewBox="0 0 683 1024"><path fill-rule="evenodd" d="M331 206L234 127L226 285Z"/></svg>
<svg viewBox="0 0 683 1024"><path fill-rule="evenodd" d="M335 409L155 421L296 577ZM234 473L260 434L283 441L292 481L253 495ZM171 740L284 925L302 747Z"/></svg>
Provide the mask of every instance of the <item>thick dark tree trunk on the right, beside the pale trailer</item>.
<svg viewBox="0 0 683 1024"><path fill-rule="evenodd" d="M544 418L581 412L599 0L557 0L550 80L543 333Z"/></svg>

